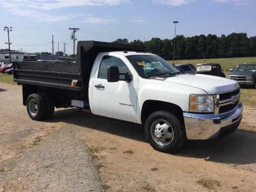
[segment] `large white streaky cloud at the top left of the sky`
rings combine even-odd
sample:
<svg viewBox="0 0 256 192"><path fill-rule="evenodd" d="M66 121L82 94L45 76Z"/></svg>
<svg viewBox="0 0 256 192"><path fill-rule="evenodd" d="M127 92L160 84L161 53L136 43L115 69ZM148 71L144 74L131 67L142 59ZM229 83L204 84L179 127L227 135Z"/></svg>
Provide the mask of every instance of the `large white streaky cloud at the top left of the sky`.
<svg viewBox="0 0 256 192"><path fill-rule="evenodd" d="M0 6L10 9L11 13L30 17L36 21L57 22L71 20L78 16L87 16L80 22L98 24L116 21L113 18L97 18L85 14L58 16L54 15L54 12L44 11L78 6L117 6L122 3L129 3L129 0L0 0Z"/></svg>

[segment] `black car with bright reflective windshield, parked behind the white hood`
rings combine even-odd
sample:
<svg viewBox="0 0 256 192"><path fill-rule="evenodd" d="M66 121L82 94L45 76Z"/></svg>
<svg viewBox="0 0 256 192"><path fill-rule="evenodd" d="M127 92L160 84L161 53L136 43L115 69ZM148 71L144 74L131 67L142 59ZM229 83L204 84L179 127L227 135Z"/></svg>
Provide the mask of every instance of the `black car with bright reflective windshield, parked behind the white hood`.
<svg viewBox="0 0 256 192"><path fill-rule="evenodd" d="M218 63L209 63L209 64L199 65L196 68L196 73L213 75L218 77L225 77L225 74L222 72L222 67Z"/></svg>

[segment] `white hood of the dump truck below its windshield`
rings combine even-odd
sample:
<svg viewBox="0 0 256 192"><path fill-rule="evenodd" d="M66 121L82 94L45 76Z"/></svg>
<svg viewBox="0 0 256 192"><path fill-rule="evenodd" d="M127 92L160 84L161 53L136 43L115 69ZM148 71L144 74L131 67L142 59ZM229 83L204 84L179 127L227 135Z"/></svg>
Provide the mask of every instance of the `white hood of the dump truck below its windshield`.
<svg viewBox="0 0 256 192"><path fill-rule="evenodd" d="M192 86L204 90L208 94L226 92L239 87L235 80L203 74L178 74L165 79L166 82Z"/></svg>

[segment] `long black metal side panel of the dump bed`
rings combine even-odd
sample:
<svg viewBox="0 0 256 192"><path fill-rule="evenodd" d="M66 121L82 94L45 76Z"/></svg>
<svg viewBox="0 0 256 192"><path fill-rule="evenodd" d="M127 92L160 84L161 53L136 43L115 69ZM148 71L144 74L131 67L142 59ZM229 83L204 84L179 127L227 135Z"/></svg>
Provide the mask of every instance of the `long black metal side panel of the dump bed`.
<svg viewBox="0 0 256 192"><path fill-rule="evenodd" d="M59 89L83 91L85 89L77 63L15 61L13 81L19 84L47 86ZM77 86L71 86L72 80Z"/></svg>

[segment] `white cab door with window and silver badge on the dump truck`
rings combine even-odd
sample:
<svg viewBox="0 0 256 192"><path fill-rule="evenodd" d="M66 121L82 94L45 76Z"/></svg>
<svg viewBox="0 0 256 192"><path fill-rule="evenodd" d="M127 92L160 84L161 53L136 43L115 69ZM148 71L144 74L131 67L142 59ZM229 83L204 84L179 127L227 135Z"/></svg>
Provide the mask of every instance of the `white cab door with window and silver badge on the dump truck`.
<svg viewBox="0 0 256 192"><path fill-rule="evenodd" d="M120 75L118 82L108 82L108 66L118 66L120 73L132 74L120 58L109 55L102 57L92 87L94 114L136 122L137 73L133 74L129 83L125 81L124 75Z"/></svg>

